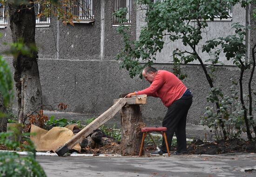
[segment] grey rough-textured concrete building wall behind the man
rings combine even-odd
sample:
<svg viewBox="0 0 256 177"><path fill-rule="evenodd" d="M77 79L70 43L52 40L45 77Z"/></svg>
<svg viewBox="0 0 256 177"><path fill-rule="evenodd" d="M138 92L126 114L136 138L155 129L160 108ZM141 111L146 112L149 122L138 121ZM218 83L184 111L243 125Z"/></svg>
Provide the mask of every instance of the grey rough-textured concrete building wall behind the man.
<svg viewBox="0 0 256 177"><path fill-rule="evenodd" d="M115 60L115 55L121 50L122 39L116 33L116 27L112 26L112 0L95 2L94 23L64 26L53 18L50 27L36 28L43 102L51 104L61 101L68 105L67 111L87 114L89 117L106 111L119 94L149 86L149 83L138 77L131 79L125 69L120 69L119 61ZM139 22L138 13L133 9L130 34L135 39ZM243 16L242 13L242 19ZM225 22L218 23L219 33L222 30L228 32ZM0 33L4 34L1 41L11 42L9 26L0 29ZM217 36L216 33L211 34L214 35ZM0 51L4 49L7 47L0 44ZM172 53L172 50L166 50L161 57L163 60L155 64L157 69L172 71L172 65L168 62L169 52ZM11 64L11 57L5 56L5 59ZM209 105L206 101L209 85L199 65L184 65L182 72L188 74L183 82L194 95L188 123L198 124L199 117ZM216 84L221 85L222 90L228 93L231 85L229 79L238 77L238 74L239 71L234 66L219 66L216 71ZM248 78L249 73L246 74ZM256 88L255 81L253 84L253 88ZM142 105L141 110L148 125L161 125L167 108L159 98L148 98L147 105ZM120 122L118 115L115 121Z"/></svg>

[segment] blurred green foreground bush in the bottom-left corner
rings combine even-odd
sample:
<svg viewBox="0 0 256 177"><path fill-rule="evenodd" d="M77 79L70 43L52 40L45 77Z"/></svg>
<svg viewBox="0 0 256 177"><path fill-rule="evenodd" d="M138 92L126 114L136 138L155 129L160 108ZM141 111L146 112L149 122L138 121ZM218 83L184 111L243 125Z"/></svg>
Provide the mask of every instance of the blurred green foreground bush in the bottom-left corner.
<svg viewBox="0 0 256 177"><path fill-rule="evenodd" d="M33 143L27 139L27 144L11 141L8 137L13 132L0 133L0 144L10 149L27 150L27 156L20 156L16 152L0 152L0 176L1 177L46 177L44 170L35 160L35 148ZM28 137L27 134L24 134Z"/></svg>

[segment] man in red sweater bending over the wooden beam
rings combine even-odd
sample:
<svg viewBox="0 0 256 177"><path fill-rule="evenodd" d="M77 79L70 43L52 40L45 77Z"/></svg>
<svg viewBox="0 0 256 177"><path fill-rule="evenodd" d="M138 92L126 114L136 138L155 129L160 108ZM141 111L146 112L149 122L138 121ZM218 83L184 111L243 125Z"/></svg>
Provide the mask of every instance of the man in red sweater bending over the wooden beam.
<svg viewBox="0 0 256 177"><path fill-rule="evenodd" d="M148 88L129 93L128 98L134 95L146 94L147 96L159 97L162 103L168 107L163 118L162 126L167 127L166 136L168 147L175 133L177 138L177 151L175 154L187 152L186 120L189 108L192 104L192 94L189 89L173 73L147 66L142 71L143 77L151 84ZM152 152L151 155L162 155L167 153L166 144L162 141L160 151Z"/></svg>

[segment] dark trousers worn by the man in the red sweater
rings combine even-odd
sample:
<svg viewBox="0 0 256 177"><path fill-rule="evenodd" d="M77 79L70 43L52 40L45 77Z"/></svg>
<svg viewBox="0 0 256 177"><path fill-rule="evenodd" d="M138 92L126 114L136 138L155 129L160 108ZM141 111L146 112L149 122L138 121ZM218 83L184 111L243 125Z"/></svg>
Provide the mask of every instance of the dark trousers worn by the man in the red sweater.
<svg viewBox="0 0 256 177"><path fill-rule="evenodd" d="M168 107L168 111L162 121L162 126L167 127L166 136L169 150L171 149L172 138L175 133L177 138L177 151L187 151L186 121L191 104L192 95L187 98L178 99ZM164 140L162 141L161 149L166 151Z"/></svg>

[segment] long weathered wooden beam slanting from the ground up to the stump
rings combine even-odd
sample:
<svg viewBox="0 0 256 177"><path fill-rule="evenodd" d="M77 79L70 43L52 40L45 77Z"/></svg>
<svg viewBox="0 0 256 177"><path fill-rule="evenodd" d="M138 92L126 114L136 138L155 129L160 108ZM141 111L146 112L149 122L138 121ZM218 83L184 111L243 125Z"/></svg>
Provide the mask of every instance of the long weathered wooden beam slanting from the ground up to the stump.
<svg viewBox="0 0 256 177"><path fill-rule="evenodd" d="M86 138L90 133L92 133L95 129L99 128L105 122L107 122L110 118L113 118L115 114L121 110L121 108L126 104L126 99L120 98L113 106L111 106L107 111L101 114L98 118L96 118L89 125L84 127L81 131L79 131L73 138L71 138L67 143L57 149L55 152L58 156L63 156L68 150L74 147L75 144L80 143L82 139Z"/></svg>

